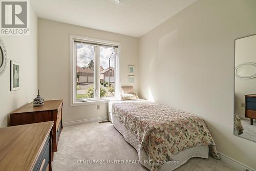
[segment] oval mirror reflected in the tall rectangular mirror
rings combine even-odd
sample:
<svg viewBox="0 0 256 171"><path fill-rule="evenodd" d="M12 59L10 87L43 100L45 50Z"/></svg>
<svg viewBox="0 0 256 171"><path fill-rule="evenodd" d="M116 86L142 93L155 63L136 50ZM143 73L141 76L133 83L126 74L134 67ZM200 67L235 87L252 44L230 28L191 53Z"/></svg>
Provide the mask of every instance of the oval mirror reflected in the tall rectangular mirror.
<svg viewBox="0 0 256 171"><path fill-rule="evenodd" d="M237 77L242 79L251 79L256 77L256 63L246 62L238 65L235 69Z"/></svg>

